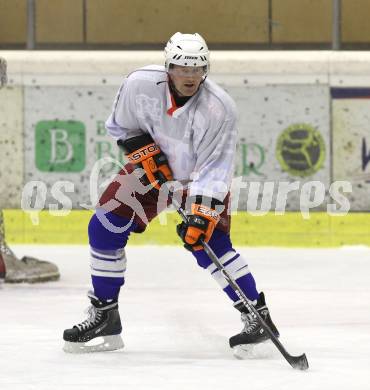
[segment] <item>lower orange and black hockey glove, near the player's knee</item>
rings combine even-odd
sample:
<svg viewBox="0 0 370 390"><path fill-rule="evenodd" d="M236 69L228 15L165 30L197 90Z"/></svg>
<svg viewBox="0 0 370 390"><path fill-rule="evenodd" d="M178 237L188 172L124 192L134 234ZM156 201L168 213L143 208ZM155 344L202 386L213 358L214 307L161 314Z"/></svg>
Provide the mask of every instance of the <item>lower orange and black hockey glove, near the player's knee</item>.
<svg viewBox="0 0 370 390"><path fill-rule="evenodd" d="M213 208L193 203L188 221L177 225L177 234L184 241L184 247L190 251L203 249L201 241L208 242L220 220L220 216Z"/></svg>

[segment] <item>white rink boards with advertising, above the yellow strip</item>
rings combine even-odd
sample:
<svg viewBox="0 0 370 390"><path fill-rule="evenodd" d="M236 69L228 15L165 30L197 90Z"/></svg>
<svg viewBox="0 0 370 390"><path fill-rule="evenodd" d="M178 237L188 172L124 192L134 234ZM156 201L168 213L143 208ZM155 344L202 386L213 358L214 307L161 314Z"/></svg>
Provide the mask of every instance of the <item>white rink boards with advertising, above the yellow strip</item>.
<svg viewBox="0 0 370 390"><path fill-rule="evenodd" d="M0 93L0 154L6 156L0 207L20 207L21 189L30 181L47 188L45 205L56 204L51 191L61 181L73 186L68 192L73 208L95 204L96 199L89 197L94 162L109 157L120 163L122 157L104 130L117 88L133 69L162 63L163 53L8 51L2 55L10 73L9 86ZM235 176L248 182L318 180L326 189L344 178L353 184L351 210L369 210L369 99L360 101L358 95L342 99L331 93L363 89L366 95L369 70L367 52L212 53L212 79L227 89L240 113ZM299 135L295 126L304 133L299 148L290 142ZM97 191L118 167L104 166ZM320 210L325 210L327 201L326 194ZM246 194L239 207L246 209ZM299 210L298 193L289 195L287 210Z"/></svg>

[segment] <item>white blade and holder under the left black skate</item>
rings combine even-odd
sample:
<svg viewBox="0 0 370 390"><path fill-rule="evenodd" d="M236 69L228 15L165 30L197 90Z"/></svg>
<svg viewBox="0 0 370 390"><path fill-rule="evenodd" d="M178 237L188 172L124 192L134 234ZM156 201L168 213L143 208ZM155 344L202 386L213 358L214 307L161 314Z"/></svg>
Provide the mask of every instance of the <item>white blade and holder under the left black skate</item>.
<svg viewBox="0 0 370 390"><path fill-rule="evenodd" d="M122 337L120 335L96 337L86 343L74 343L66 341L63 351L67 353L91 353L91 352L106 352L116 351L124 347Z"/></svg>

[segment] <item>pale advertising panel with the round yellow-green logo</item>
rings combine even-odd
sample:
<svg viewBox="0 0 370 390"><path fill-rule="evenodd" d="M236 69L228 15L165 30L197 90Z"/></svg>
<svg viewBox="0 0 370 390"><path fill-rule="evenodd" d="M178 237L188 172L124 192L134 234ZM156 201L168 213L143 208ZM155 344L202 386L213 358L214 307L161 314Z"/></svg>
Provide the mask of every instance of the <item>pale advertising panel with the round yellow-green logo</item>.
<svg viewBox="0 0 370 390"><path fill-rule="evenodd" d="M251 182L260 182L257 195L256 191L241 192L240 209L249 209L248 198L249 202L260 204L263 193L265 198L272 197L272 204L276 206L279 187L283 190L294 182L299 184L290 187L293 190L287 195L287 210L300 210L302 202L312 200L315 191L328 189L330 97L327 86L226 89L235 99L240 116L235 176L242 176L249 188L258 186ZM321 184L310 186L309 182ZM302 194L302 188L311 191L311 196ZM322 195L327 201L327 195ZM256 196L258 199L254 199ZM323 199L316 208L325 209L325 201Z"/></svg>

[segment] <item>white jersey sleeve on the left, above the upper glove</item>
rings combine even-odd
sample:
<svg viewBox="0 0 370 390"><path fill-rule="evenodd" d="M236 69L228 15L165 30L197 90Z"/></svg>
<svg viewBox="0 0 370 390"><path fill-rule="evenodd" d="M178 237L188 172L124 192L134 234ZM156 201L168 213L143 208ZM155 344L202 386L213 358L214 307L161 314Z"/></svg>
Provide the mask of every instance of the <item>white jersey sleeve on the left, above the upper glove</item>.
<svg viewBox="0 0 370 390"><path fill-rule="evenodd" d="M126 78L114 100L112 113L105 122L108 134L114 139L128 139L143 133L135 112L135 85Z"/></svg>

